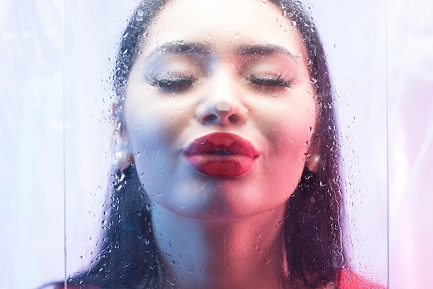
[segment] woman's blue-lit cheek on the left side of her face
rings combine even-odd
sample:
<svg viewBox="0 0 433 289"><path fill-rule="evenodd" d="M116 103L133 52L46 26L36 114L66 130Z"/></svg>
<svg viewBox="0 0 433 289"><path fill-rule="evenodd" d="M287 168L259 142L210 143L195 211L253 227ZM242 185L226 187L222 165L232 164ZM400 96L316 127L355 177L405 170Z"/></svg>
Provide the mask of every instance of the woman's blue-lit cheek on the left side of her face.
<svg viewBox="0 0 433 289"><path fill-rule="evenodd" d="M176 105L176 100L157 96L145 100L125 101L125 121L138 175L150 193L179 165L179 135L188 118L186 108Z"/></svg>

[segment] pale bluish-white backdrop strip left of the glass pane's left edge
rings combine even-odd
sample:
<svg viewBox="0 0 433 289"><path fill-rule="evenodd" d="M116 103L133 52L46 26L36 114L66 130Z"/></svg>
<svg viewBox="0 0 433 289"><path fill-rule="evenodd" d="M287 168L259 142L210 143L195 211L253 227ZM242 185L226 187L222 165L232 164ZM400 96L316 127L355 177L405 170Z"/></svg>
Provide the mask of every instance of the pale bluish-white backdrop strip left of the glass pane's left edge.
<svg viewBox="0 0 433 289"><path fill-rule="evenodd" d="M61 1L0 1L0 288L62 277Z"/></svg>

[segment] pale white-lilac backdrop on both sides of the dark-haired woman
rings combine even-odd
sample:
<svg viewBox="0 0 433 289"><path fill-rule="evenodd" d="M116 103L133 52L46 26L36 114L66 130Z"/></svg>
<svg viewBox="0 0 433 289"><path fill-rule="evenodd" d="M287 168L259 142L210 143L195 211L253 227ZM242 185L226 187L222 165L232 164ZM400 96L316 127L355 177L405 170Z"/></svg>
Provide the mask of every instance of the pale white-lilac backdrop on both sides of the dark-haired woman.
<svg viewBox="0 0 433 289"><path fill-rule="evenodd" d="M130 11L125 2L66 1L66 20L72 21L64 33L65 85L76 97L66 98L65 114L62 3L0 3L1 289L30 289L63 279L64 183L68 212L76 212L67 219L68 272L80 270L91 258L91 249L83 248L92 248L98 235L95 223L109 168L109 125L104 121L109 103L101 100L110 94L108 63ZM353 251L362 255L361 272L376 272L386 282L381 261L386 216L376 210L386 204L385 4L332 2L317 1L311 13L325 41L344 124L347 187L355 192L349 200L358 203L349 211L357 227ZM432 196L427 194L432 190L417 181L428 180L432 172L427 167L433 159L432 6L418 0L409 9L396 0L388 8L392 288L430 286L425 276L432 236L425 233L430 227L426 220L432 218ZM375 100L365 101L369 98Z"/></svg>

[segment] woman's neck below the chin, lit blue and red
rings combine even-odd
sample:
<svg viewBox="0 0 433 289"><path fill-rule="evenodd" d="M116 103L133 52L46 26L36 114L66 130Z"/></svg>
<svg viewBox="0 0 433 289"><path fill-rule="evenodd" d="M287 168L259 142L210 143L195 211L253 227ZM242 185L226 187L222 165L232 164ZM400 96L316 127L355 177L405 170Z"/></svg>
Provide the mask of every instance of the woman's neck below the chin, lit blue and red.
<svg viewBox="0 0 433 289"><path fill-rule="evenodd" d="M156 246L176 288L285 288L285 206L220 221L179 216L153 204Z"/></svg>

